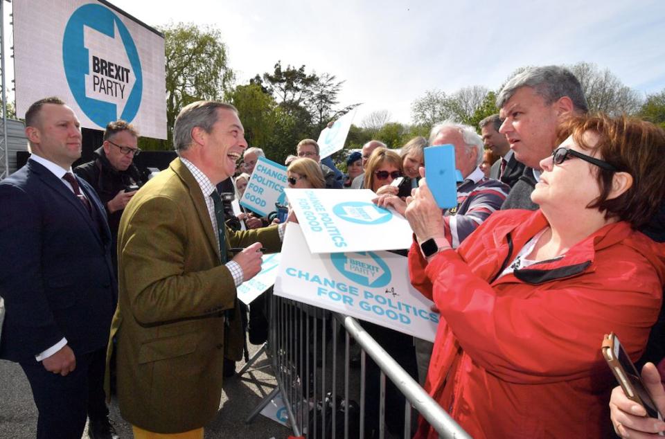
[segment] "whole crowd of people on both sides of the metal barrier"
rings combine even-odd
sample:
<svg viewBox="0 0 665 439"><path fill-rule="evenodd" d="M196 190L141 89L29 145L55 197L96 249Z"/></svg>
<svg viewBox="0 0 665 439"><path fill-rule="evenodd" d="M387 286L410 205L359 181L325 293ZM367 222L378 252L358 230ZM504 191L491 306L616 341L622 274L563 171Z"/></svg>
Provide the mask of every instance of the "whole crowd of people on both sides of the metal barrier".
<svg viewBox="0 0 665 439"><path fill-rule="evenodd" d="M305 138L286 160L287 185L366 188L406 217L414 241L396 252L441 316L436 340L364 326L471 436L657 436L665 422L617 386L601 342L617 334L632 361L665 355L665 132L589 114L580 82L559 66L517 73L497 107L478 127L445 120L405 145L371 140L348 154L346 172ZM32 155L0 181L0 358L28 377L39 438L78 439L87 417L91 437L115 437L104 401L112 371L134 437L202 438L245 331L265 341L263 301L248 325L236 287L297 218L224 207L266 157L248 147L241 116L220 102L181 109L178 157L148 179L132 163L132 125L110 122L94 160L72 170L76 114L57 98L28 109ZM424 159L443 144L462 177L444 210ZM373 437L378 369L367 370ZM663 413L665 375L646 363L643 376ZM403 400L390 386L387 399L388 427L403 431ZM423 419L414 435L437 437Z"/></svg>

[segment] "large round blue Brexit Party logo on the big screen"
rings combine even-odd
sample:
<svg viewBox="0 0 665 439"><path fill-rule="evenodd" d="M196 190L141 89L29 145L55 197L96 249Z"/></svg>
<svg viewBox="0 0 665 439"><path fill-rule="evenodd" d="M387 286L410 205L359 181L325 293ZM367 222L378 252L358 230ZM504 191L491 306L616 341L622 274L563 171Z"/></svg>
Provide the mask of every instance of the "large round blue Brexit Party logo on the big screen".
<svg viewBox="0 0 665 439"><path fill-rule="evenodd" d="M125 24L101 5L87 4L69 17L62 39L69 89L90 120L105 127L130 122L143 93L141 60Z"/></svg>

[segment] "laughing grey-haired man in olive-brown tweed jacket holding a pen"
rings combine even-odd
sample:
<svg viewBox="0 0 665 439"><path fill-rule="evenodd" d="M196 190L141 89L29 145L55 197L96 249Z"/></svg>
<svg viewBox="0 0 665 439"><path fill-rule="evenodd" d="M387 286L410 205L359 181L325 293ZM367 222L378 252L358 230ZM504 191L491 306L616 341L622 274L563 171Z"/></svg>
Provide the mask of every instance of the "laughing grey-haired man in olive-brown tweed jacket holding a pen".
<svg viewBox="0 0 665 439"><path fill-rule="evenodd" d="M215 185L233 175L247 147L244 133L232 105L184 107L173 128L178 157L125 208L111 337L118 402L135 437L203 438L218 413L224 357L241 357L236 287L260 271L263 249L281 247L285 224L238 232L224 226Z"/></svg>

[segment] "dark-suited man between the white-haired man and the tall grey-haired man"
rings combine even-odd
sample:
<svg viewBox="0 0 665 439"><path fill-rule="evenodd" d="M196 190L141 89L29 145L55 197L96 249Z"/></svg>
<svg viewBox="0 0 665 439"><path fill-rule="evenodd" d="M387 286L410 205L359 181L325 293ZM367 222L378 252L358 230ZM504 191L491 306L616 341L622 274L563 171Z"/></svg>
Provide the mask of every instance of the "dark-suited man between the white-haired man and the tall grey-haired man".
<svg viewBox="0 0 665 439"><path fill-rule="evenodd" d="M499 133L502 122L498 114L493 114L481 120L478 125L485 147L501 157L492 165L490 178L502 181L512 188L522 176L524 165L515 159L506 136Z"/></svg>

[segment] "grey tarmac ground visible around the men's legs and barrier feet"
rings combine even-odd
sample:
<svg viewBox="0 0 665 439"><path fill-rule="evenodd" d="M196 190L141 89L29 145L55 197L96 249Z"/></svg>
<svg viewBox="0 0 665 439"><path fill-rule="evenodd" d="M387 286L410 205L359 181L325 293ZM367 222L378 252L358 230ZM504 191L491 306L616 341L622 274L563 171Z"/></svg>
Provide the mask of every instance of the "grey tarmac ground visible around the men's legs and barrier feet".
<svg viewBox="0 0 665 439"><path fill-rule="evenodd" d="M1 305L0 305L1 307ZM256 352L258 347L250 347ZM242 363L238 364L238 370ZM206 427L206 438L285 438L290 430L262 415L251 424L245 418L265 395L276 386L272 368L263 355L242 377L232 377L224 384L217 418ZM132 438L131 427L118 411L115 400L110 406L112 422L121 438ZM23 370L14 363L0 360L0 439L34 438L37 409ZM87 438L87 431L84 433Z"/></svg>

